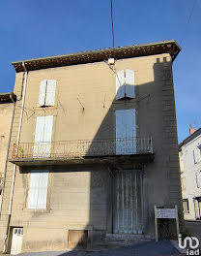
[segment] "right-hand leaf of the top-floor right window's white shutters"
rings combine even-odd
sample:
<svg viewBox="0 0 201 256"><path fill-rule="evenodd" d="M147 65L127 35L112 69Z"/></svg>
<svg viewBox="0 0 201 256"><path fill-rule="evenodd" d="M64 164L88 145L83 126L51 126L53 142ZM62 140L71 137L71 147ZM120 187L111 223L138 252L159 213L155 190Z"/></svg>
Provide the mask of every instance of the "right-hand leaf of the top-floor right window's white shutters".
<svg viewBox="0 0 201 256"><path fill-rule="evenodd" d="M135 98L134 71L127 69L125 74L126 96L129 98Z"/></svg>

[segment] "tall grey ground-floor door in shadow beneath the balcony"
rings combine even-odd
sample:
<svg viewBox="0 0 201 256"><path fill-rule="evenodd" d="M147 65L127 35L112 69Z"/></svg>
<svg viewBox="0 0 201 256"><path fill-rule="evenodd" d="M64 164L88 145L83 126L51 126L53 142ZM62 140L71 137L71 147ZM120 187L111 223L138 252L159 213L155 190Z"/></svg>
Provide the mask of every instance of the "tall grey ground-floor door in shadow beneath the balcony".
<svg viewBox="0 0 201 256"><path fill-rule="evenodd" d="M142 170L114 172L113 233L142 234Z"/></svg>

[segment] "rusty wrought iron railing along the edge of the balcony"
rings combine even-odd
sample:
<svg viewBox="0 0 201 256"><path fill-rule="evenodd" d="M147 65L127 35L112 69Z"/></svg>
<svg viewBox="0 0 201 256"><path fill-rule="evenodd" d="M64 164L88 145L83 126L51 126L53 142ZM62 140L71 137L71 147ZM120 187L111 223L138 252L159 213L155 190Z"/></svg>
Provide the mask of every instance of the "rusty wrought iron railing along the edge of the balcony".
<svg viewBox="0 0 201 256"><path fill-rule="evenodd" d="M81 158L153 153L152 138L14 144L12 158Z"/></svg>

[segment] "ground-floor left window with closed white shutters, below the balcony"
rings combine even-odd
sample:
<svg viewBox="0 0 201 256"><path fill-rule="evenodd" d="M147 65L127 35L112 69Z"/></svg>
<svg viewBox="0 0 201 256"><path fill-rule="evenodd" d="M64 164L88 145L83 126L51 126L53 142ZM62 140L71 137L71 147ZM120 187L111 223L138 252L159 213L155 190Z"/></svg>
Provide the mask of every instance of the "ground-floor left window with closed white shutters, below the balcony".
<svg viewBox="0 0 201 256"><path fill-rule="evenodd" d="M48 171L31 173L27 208L46 208Z"/></svg>

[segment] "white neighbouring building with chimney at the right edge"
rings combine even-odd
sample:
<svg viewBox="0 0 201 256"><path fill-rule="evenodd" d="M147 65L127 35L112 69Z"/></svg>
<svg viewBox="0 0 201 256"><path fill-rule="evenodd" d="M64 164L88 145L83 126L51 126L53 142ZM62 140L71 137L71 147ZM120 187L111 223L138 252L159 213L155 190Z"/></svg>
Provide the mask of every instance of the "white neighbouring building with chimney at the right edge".
<svg viewBox="0 0 201 256"><path fill-rule="evenodd" d="M179 144L185 219L201 219L201 128Z"/></svg>

